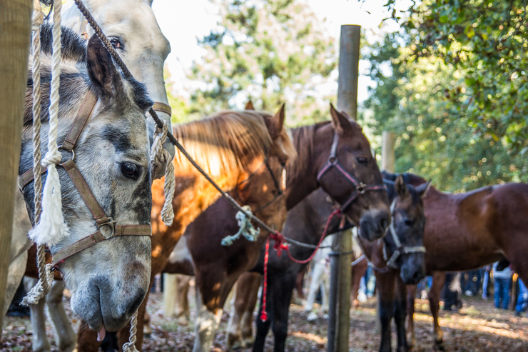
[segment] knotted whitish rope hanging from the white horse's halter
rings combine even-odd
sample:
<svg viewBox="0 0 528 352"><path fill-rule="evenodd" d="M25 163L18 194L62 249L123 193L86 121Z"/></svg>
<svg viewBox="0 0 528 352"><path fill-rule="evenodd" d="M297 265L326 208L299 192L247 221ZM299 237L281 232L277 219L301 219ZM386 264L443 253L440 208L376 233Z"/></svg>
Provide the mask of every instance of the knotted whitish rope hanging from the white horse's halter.
<svg viewBox="0 0 528 352"><path fill-rule="evenodd" d="M151 149L151 161L153 163L152 172L156 172L156 169L163 164L166 164L165 167L165 203L163 203L163 209L161 209L161 220L167 226L171 226L174 220L174 211L173 211L173 197L174 197L174 188L176 186L176 180L174 175L174 165L172 163L171 154L163 148L163 144L167 139L168 125L163 121L163 129L160 130L156 126L156 131L154 132L154 141L152 143Z"/></svg>

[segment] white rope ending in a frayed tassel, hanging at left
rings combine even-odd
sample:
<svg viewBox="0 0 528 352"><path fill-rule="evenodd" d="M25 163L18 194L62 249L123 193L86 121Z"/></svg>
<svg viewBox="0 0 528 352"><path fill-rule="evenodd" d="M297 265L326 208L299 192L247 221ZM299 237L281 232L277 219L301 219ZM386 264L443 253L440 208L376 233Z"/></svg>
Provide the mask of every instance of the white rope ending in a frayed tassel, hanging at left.
<svg viewBox="0 0 528 352"><path fill-rule="evenodd" d="M55 167L61 161L57 146L59 130L59 79L61 74L61 0L54 0L53 54L51 56L51 89L49 104L48 151L42 160L47 168L46 183L42 195L41 221L29 231L29 237L37 245L54 246L69 235L62 214L61 183Z"/></svg>

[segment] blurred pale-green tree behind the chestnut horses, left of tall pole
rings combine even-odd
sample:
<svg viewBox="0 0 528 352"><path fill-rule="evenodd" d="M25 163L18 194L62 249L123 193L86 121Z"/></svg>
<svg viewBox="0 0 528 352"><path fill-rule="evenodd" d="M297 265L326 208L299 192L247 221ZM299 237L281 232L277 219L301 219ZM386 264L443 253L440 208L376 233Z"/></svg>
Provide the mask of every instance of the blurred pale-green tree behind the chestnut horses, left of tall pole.
<svg viewBox="0 0 528 352"><path fill-rule="evenodd" d="M191 79L203 82L191 96L191 114L258 109L287 102L288 120L321 119L318 86L335 69L334 43L310 8L298 0L218 0L221 21L198 44L207 50ZM328 110L328 106L324 106Z"/></svg>

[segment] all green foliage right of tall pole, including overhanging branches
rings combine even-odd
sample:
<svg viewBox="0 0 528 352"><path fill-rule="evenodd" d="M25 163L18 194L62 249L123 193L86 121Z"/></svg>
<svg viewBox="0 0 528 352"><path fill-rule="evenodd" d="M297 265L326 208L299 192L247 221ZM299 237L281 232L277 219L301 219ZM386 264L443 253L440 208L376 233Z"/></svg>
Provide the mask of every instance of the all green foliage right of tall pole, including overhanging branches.
<svg viewBox="0 0 528 352"><path fill-rule="evenodd" d="M395 131L397 171L457 191L528 181L524 0L425 0L370 48L365 106Z"/></svg>

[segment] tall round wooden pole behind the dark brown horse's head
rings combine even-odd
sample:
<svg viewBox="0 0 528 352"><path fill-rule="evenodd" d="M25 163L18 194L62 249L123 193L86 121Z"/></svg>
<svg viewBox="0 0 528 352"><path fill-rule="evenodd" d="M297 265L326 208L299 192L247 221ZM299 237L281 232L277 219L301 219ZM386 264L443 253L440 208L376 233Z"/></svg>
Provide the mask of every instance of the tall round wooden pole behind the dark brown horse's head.
<svg viewBox="0 0 528 352"><path fill-rule="evenodd" d="M360 63L361 26L341 26L337 110L357 117L357 77ZM328 351L348 351L350 332L350 280L352 237L340 236L340 254L330 259L330 311ZM345 254L346 253L346 254Z"/></svg>

